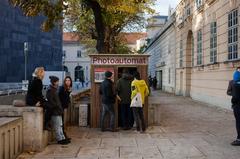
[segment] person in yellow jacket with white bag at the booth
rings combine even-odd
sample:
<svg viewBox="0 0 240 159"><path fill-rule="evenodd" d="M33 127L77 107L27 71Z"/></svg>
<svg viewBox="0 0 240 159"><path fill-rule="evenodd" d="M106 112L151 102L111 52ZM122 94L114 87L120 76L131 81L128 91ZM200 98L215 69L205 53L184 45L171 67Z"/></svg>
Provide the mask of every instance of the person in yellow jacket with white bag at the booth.
<svg viewBox="0 0 240 159"><path fill-rule="evenodd" d="M141 80L139 72L136 72L134 74L134 80L132 81L131 84L132 87L132 94L131 94L131 99L132 103L135 100L135 97L139 94L139 98L141 98L141 105L132 105L131 107L133 109L133 115L134 115L134 120L136 121L137 125L137 131L140 131L141 133L144 133L146 130L146 125L144 121L144 115L143 115L143 107L144 107L144 102L145 102L145 97L149 95L149 89L144 80ZM138 99L139 100L139 99Z"/></svg>

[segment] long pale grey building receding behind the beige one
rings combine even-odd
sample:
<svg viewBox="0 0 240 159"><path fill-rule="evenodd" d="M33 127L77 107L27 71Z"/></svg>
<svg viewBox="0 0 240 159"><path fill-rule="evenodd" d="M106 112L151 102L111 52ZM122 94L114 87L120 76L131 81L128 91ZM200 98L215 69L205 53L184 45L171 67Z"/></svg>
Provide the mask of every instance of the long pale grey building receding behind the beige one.
<svg viewBox="0 0 240 159"><path fill-rule="evenodd" d="M175 16L153 37L145 50L150 55L149 75L157 77L157 88L175 92Z"/></svg>

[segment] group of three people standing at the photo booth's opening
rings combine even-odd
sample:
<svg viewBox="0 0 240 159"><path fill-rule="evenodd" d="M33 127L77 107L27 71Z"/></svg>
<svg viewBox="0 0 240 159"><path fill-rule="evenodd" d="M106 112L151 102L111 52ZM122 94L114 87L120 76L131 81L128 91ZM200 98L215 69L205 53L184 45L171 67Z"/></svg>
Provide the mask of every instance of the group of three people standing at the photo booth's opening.
<svg viewBox="0 0 240 159"><path fill-rule="evenodd" d="M123 71L122 77L117 81L116 88L112 81L113 73L105 72L105 80L100 86L100 95L102 98L102 110L100 127L101 131L115 132L115 100L120 105L120 114L123 130L132 129L134 120L136 122L137 131L144 133L146 130L143 107L145 97L149 95L149 89L144 80L140 79L139 72L135 72L133 77L127 70ZM106 115L110 114L110 128L105 128Z"/></svg>

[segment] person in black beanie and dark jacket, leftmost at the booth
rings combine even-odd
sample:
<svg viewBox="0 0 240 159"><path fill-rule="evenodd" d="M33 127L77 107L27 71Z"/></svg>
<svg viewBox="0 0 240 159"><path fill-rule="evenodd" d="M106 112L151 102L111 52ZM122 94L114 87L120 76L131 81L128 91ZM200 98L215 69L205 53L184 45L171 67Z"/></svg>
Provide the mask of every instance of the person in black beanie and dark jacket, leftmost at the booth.
<svg viewBox="0 0 240 159"><path fill-rule="evenodd" d="M114 103L116 94L113 90L113 82L112 82L113 73L110 71L105 72L105 80L101 83L100 86L100 95L102 96L102 112L100 119L101 131L105 131L104 123L106 119L107 113L110 114L110 131L114 132L115 129L115 110Z"/></svg>

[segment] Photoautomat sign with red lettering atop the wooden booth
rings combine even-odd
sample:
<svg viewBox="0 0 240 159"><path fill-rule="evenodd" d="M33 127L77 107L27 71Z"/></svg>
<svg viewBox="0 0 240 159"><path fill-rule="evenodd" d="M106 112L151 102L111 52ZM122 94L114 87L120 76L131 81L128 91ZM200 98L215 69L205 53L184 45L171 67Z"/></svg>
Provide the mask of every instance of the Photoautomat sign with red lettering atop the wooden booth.
<svg viewBox="0 0 240 159"><path fill-rule="evenodd" d="M148 60L145 57L93 57L94 65L147 65Z"/></svg>

